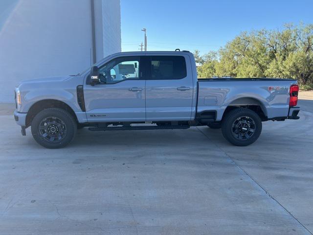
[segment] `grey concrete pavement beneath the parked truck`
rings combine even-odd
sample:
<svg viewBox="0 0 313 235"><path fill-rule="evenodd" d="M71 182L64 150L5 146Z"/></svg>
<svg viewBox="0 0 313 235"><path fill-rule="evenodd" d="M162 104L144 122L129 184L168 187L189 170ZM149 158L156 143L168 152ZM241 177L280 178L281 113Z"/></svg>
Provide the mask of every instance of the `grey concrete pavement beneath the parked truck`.
<svg viewBox="0 0 313 235"><path fill-rule="evenodd" d="M264 122L247 147L194 127L80 130L51 150L3 111L0 234L312 234L307 102L310 112Z"/></svg>

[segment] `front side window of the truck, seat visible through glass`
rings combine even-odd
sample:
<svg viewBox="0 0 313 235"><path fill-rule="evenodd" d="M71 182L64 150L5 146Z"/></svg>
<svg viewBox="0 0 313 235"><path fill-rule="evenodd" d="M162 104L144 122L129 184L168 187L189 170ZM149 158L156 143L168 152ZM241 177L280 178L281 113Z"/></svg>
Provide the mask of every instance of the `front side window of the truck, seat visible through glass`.
<svg viewBox="0 0 313 235"><path fill-rule="evenodd" d="M101 84L140 79L140 57L119 57L99 68Z"/></svg>

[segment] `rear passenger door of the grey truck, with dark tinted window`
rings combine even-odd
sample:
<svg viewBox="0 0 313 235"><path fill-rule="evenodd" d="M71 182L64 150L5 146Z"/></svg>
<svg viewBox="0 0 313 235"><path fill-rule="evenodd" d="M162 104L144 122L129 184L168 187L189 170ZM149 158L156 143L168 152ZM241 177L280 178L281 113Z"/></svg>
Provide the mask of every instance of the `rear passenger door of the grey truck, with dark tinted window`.
<svg viewBox="0 0 313 235"><path fill-rule="evenodd" d="M193 78L188 55L151 55L146 80L146 120L190 120Z"/></svg>

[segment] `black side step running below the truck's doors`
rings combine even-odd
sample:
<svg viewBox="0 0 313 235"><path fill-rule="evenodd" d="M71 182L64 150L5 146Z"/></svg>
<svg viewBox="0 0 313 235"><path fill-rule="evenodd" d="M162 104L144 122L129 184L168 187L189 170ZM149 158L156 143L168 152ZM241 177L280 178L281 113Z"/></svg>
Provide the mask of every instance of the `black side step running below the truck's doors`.
<svg viewBox="0 0 313 235"><path fill-rule="evenodd" d="M89 131L127 131L127 130L165 130L165 129L188 129L190 126L112 126L112 127L89 127Z"/></svg>

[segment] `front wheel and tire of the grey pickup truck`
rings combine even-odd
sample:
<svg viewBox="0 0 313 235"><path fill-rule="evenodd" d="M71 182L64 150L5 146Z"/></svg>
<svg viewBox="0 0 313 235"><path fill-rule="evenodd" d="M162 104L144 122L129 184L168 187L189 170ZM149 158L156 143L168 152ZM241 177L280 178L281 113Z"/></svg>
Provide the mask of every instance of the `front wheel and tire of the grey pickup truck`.
<svg viewBox="0 0 313 235"><path fill-rule="evenodd" d="M31 133L45 148L63 148L73 140L77 130L75 119L59 108L44 109L31 122Z"/></svg>

